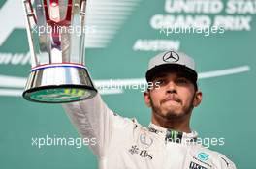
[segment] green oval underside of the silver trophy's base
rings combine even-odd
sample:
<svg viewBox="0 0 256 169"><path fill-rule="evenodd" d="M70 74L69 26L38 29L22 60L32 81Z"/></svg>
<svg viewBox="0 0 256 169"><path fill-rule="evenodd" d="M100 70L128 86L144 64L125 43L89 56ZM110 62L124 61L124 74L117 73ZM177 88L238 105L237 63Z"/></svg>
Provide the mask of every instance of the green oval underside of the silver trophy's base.
<svg viewBox="0 0 256 169"><path fill-rule="evenodd" d="M36 102L63 103L88 99L93 96L93 92L83 88L49 87L26 91L24 98Z"/></svg>

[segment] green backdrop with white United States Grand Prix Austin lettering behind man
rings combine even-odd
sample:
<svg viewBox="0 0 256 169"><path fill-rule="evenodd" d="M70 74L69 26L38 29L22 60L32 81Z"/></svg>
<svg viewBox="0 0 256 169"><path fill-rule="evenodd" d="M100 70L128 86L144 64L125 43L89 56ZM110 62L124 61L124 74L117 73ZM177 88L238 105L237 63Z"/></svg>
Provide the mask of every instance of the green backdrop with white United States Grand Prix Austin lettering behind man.
<svg viewBox="0 0 256 169"><path fill-rule="evenodd" d="M97 82L144 81L148 60L169 49L192 56L203 102L191 127L205 145L254 169L256 1L88 0L86 66ZM22 1L0 0L0 168L97 168L86 146L42 146L34 138L78 137L58 104L22 99L30 53ZM170 27L176 27L176 30ZM204 29L182 32L178 27ZM169 27L169 28L168 28ZM173 31L173 32L172 32ZM121 116L147 126L141 89L108 90L103 99ZM214 143L210 140L216 138ZM223 144L224 142L224 144Z"/></svg>

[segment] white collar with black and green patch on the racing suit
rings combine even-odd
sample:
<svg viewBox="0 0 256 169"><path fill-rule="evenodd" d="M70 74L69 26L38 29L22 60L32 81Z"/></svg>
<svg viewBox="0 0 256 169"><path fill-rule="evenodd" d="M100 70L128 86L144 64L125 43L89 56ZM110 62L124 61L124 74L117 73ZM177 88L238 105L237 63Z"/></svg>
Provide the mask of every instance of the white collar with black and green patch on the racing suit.
<svg viewBox="0 0 256 169"><path fill-rule="evenodd" d="M148 126L148 130L150 132L154 132L162 137L165 142L174 142L180 144L191 144L197 142L198 133L196 131L192 131L190 133L176 131L174 129L160 127L150 123Z"/></svg>

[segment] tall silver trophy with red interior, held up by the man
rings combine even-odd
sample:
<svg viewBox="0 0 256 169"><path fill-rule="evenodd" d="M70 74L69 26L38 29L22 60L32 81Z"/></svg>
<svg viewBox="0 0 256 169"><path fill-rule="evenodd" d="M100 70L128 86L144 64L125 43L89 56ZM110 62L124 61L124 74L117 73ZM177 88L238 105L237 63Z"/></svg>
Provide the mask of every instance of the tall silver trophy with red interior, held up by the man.
<svg viewBox="0 0 256 169"><path fill-rule="evenodd" d="M86 0L23 0L31 66L23 98L61 103L97 93L84 66Z"/></svg>

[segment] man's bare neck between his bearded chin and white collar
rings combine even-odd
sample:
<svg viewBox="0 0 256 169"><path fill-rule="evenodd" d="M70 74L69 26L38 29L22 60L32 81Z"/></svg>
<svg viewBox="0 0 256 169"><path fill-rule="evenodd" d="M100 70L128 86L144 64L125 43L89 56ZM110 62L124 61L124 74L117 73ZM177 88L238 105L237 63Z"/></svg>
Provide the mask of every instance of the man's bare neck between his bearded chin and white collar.
<svg viewBox="0 0 256 169"><path fill-rule="evenodd" d="M187 115L187 117L182 117L179 119L174 118L170 120L170 119L163 118L158 114L152 113L151 122L154 125L157 125L159 127L165 127L165 128L174 129L176 131L190 133L191 129L189 126L189 120L190 120L190 114Z"/></svg>

